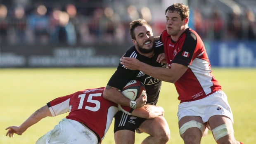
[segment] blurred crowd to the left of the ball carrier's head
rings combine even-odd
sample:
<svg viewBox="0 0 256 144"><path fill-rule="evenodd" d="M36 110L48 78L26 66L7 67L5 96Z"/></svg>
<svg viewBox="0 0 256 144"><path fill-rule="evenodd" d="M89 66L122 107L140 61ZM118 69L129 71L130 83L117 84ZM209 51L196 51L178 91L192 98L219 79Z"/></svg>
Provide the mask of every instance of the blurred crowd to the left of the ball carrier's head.
<svg viewBox="0 0 256 144"><path fill-rule="evenodd" d="M82 14L71 4L64 8L38 5L31 11L21 5L13 9L0 5L1 44L122 42L127 29L124 24L110 7L95 8L90 14Z"/></svg>

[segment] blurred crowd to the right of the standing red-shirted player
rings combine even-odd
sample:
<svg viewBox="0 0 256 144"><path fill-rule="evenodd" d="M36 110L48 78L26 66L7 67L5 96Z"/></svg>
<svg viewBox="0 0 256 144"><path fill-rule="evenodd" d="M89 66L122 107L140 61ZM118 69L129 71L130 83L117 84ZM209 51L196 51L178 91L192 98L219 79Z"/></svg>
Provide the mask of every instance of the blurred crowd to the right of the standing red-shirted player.
<svg viewBox="0 0 256 144"><path fill-rule="evenodd" d="M198 8L193 11L194 30L210 40L256 40L256 17L252 9L242 12L234 8L223 17L220 9L214 7L211 13L203 16Z"/></svg>

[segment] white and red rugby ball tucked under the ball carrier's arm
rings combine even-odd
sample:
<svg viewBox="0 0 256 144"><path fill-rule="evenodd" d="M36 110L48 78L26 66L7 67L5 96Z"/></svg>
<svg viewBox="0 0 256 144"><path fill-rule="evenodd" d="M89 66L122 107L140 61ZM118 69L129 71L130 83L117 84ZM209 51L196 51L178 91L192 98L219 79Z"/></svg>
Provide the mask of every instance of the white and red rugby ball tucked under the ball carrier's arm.
<svg viewBox="0 0 256 144"><path fill-rule="evenodd" d="M145 85L138 80L130 80L121 90L121 93L132 101L135 101L138 97L141 97L143 94L145 94L145 92ZM130 111L132 110L129 106L121 106L120 104L118 104L118 109L119 111L123 111L128 115L130 115Z"/></svg>

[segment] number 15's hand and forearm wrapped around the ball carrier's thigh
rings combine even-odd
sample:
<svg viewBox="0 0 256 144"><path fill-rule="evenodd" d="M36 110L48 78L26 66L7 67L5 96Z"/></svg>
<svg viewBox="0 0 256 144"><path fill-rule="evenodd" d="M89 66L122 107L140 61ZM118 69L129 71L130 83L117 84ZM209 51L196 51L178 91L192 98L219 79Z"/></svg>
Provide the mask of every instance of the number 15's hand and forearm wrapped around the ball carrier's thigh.
<svg viewBox="0 0 256 144"><path fill-rule="evenodd" d="M150 119L156 116L164 116L164 109L161 106L146 104L139 109L134 109L131 115Z"/></svg>

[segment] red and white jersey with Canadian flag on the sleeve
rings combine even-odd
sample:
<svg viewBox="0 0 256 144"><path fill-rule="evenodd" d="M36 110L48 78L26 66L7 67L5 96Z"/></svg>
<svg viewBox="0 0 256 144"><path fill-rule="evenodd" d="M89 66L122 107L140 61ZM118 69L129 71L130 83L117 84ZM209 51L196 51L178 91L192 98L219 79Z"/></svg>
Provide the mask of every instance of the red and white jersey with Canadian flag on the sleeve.
<svg viewBox="0 0 256 144"><path fill-rule="evenodd" d="M172 63L189 67L174 83L180 103L202 99L221 90L221 86L211 73L204 43L195 31L187 28L174 42L165 30L160 36L160 41L164 43L168 68L171 68Z"/></svg>

